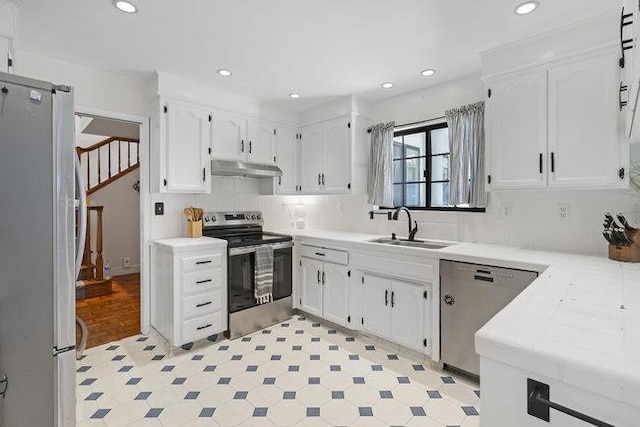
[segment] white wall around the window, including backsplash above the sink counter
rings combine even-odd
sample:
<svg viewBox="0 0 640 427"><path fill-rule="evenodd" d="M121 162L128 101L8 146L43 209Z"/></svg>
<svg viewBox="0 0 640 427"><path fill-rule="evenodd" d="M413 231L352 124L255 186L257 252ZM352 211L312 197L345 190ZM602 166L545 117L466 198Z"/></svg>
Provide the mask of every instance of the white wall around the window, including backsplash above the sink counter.
<svg viewBox="0 0 640 427"><path fill-rule="evenodd" d="M375 102L372 123L403 124L442 116L446 109L482 100L484 90L476 77ZM261 196L258 202L271 229L291 227L287 211L304 205L309 228L407 234L404 214L399 221L387 221L384 216L370 220L371 206L363 195ZM560 219L560 203L569 205L568 219ZM412 216L422 238L605 255L607 244L601 234L605 212L628 212L630 220L640 224L640 195L623 190L494 192L486 213L414 211Z"/></svg>

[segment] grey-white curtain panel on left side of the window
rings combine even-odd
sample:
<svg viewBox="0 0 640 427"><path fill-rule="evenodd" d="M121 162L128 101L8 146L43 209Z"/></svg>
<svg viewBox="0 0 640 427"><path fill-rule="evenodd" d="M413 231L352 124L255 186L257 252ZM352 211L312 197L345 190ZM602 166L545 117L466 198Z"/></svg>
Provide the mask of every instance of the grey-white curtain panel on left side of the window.
<svg viewBox="0 0 640 427"><path fill-rule="evenodd" d="M395 123L371 127L371 157L367 177L369 203L393 206L393 129Z"/></svg>

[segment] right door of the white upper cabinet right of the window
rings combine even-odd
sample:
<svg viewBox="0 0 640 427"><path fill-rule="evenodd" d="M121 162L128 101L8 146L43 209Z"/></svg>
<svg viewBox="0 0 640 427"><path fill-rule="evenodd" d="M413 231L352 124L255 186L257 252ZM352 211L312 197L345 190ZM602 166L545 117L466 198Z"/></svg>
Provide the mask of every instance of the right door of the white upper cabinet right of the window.
<svg viewBox="0 0 640 427"><path fill-rule="evenodd" d="M549 69L549 187L620 185L618 57Z"/></svg>

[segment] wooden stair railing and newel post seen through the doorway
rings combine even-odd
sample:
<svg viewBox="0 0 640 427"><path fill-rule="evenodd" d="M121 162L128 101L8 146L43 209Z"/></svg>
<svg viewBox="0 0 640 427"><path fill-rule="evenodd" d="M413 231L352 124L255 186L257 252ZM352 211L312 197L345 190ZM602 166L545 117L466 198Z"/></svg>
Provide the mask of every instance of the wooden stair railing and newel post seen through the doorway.
<svg viewBox="0 0 640 427"><path fill-rule="evenodd" d="M112 137L90 147L76 147L80 164L83 169L86 167L87 199L140 167L139 143L137 139ZM76 287L76 299L112 293L112 279L104 277L103 213L104 206L87 206L87 235L79 278L84 286ZM92 224L95 224L95 239L91 236Z"/></svg>

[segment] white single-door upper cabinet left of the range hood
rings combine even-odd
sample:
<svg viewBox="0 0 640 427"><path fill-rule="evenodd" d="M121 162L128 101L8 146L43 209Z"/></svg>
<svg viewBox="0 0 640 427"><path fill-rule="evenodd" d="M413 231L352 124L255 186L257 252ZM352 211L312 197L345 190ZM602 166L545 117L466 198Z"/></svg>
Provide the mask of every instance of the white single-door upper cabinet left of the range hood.
<svg viewBox="0 0 640 427"><path fill-rule="evenodd" d="M160 112L161 192L207 193L211 189L210 114L181 101L164 100Z"/></svg>

